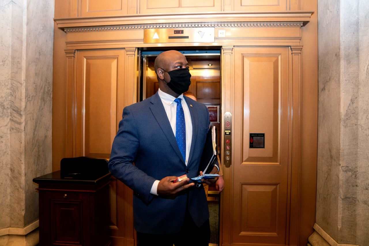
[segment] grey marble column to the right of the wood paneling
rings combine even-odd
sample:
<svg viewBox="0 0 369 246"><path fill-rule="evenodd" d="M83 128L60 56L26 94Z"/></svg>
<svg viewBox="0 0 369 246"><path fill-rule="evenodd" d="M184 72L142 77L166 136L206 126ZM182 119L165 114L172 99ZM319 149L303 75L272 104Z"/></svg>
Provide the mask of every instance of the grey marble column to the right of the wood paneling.
<svg viewBox="0 0 369 246"><path fill-rule="evenodd" d="M333 245L369 245L368 27L367 1L318 0L315 229Z"/></svg>

